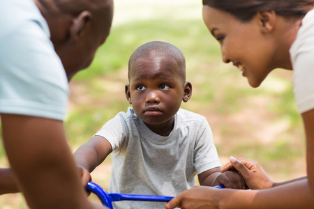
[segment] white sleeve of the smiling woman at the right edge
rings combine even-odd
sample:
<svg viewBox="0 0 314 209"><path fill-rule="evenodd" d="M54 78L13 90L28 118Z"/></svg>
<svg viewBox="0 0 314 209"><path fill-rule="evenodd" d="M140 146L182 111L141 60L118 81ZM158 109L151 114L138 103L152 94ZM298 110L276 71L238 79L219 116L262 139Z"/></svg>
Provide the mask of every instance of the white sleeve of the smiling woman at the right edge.
<svg viewBox="0 0 314 209"><path fill-rule="evenodd" d="M290 48L294 97L300 114L314 108L314 11L309 12Z"/></svg>

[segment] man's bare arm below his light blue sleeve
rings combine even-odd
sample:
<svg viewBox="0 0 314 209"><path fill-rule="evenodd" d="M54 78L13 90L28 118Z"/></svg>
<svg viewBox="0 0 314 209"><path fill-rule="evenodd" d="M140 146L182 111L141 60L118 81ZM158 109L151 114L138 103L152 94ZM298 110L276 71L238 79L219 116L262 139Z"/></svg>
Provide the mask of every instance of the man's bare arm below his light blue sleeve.
<svg viewBox="0 0 314 209"><path fill-rule="evenodd" d="M1 114L3 144L30 208L94 208L84 194L63 122Z"/></svg>

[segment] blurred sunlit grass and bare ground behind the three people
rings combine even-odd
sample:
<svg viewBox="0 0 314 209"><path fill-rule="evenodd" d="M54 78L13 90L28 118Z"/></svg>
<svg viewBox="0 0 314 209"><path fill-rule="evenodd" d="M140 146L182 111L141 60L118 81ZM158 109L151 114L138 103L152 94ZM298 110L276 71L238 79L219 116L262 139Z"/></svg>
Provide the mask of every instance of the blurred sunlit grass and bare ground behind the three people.
<svg viewBox="0 0 314 209"><path fill-rule="evenodd" d="M275 181L306 175L305 138L292 94L292 71L275 70L259 88L251 88L241 72L222 62L220 46L202 21L202 1L114 3L109 38L91 66L70 83L66 130L73 152L106 121L126 111L128 58L140 45L161 40L186 56L193 96L182 107L207 117L223 165L232 155L257 160ZM8 167L2 146L0 162ZM94 182L105 189L110 162L109 157L92 173ZM6 194L0 196L0 208L27 206L20 194Z"/></svg>

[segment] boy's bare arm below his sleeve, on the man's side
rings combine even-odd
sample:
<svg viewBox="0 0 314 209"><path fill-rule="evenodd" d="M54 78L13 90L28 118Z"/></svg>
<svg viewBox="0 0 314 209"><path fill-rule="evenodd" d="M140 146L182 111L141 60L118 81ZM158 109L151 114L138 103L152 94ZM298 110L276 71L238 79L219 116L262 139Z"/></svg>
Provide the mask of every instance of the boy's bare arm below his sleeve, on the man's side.
<svg viewBox="0 0 314 209"><path fill-rule="evenodd" d="M112 146L104 137L94 136L85 144L77 148L73 157L77 166L94 171L105 158L112 153Z"/></svg>

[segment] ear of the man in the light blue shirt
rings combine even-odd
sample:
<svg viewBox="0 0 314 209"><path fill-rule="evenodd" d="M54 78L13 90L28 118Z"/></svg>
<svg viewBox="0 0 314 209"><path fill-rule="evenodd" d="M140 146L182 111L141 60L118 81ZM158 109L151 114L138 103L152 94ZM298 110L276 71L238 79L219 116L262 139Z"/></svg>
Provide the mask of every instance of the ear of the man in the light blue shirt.
<svg viewBox="0 0 314 209"><path fill-rule="evenodd" d="M84 34L84 30L87 29L87 24L91 22L91 13L89 11L82 11L77 15L70 25L70 40L77 42L80 36Z"/></svg>

